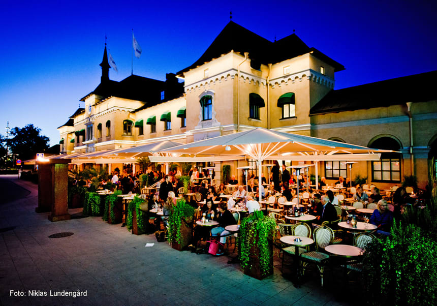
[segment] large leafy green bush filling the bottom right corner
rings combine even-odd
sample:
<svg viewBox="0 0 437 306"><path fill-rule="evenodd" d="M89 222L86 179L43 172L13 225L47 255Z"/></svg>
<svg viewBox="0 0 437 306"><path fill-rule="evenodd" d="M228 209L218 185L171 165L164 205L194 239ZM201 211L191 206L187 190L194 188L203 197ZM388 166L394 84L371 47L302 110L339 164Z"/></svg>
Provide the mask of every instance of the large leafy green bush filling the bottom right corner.
<svg viewBox="0 0 437 306"><path fill-rule="evenodd" d="M369 304L434 305L437 243L414 224L394 223L391 236L369 242L363 275Z"/></svg>

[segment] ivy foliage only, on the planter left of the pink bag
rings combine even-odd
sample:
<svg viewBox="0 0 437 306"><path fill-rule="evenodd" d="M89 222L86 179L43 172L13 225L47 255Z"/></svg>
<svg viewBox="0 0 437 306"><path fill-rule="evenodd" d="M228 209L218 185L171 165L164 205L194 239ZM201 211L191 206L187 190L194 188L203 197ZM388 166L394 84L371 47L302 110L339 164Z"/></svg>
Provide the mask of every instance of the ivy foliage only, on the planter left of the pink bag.
<svg viewBox="0 0 437 306"><path fill-rule="evenodd" d="M180 227L182 226L182 219L188 222L189 219L194 217L194 207L185 202L184 199L178 199L176 205L170 211L168 218L169 225L169 240L182 244L182 235ZM186 225L186 224L185 224ZM188 226L188 225L187 225Z"/></svg>

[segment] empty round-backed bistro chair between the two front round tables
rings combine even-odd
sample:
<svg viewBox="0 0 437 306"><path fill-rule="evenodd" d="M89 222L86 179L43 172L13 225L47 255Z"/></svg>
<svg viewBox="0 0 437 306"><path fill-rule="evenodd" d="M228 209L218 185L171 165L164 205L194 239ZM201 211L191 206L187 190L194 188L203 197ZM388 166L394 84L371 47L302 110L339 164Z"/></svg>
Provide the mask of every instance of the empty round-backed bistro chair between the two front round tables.
<svg viewBox="0 0 437 306"><path fill-rule="evenodd" d="M305 268L309 263L315 263L320 272L320 278L323 287L323 273L325 271L325 264L329 259L329 255L322 253L329 244L334 241L334 232L327 226L320 226L314 230L313 233L314 242L316 243L316 251L305 252L300 255L304 260L302 273L305 272Z"/></svg>

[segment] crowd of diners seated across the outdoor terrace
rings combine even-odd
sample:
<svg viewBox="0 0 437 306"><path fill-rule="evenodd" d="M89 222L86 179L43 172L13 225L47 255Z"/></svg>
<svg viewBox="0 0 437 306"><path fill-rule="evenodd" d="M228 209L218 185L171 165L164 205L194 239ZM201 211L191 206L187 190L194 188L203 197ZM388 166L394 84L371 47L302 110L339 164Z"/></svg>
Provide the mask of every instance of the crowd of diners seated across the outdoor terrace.
<svg viewBox="0 0 437 306"><path fill-rule="evenodd" d="M135 174L129 173L127 169L124 169L120 174L119 169L116 168L106 181L101 181L101 185L104 188L107 182L112 182L117 188L122 190L123 194L135 192L135 181L138 180L141 174L143 174L141 171ZM181 172L180 170L175 170L165 174L159 170L152 171L148 169L145 174L148 175L148 185L154 184L156 187L156 192L150 193L148 197L148 210L162 208L165 219L171 211L171 206L176 204L177 196L179 196L177 191L180 187L183 187L183 183L179 180ZM199 201L196 200L194 196L186 195L185 199L195 208L195 220L199 220L205 216L206 219L219 222L219 226L211 230L212 236L229 234L225 230L225 227L237 222L229 209L240 207L244 213L253 213L256 210L261 210L262 205L258 202L260 192L262 199L274 195L275 197L284 196L287 201L292 201L293 198L297 197L297 183L299 183L300 194L306 191L310 193L309 201L305 201L304 204L306 204L306 212L316 216L316 220L313 221L315 224L338 220L334 205L346 204L345 202L339 201L337 196L334 195L334 192L327 187L325 177L321 177L316 188L316 185L311 184L305 173L302 173L299 175L299 178L297 178L293 173L287 170L285 165L282 165L281 172L279 171L277 162L274 163L269 173L270 184L264 175L262 175L261 189L259 189L258 185L258 176L255 176L254 173L247 175L247 188L245 185L245 177L243 177L242 181L238 181L235 176L232 175L227 185L222 182L219 186L214 186L209 183L212 181L212 177L208 177L208 175L209 173L205 169L199 171L197 167L193 167L190 170L190 192L191 194L193 194L193 192L199 193L201 199ZM208 178L208 183L202 178ZM90 181L84 181L79 178L75 183L79 186L86 186L89 185ZM230 186L235 186L235 188L229 188ZM376 203L378 206L373 210L369 223L378 227L378 233L386 235L389 234L393 219L398 218L406 207L414 207L418 202L421 203L417 201L417 198L414 199L410 197L403 187L397 188L387 198L386 195L381 195L380 190L376 186L373 186L370 192L366 193L362 186L355 185L354 182L352 182L352 186L355 190L351 190L349 188L351 182L348 177L344 178L340 176L338 181L334 183L334 186L342 187L336 190L336 192L344 194L346 198L353 199L353 201L359 201L365 204ZM423 193L423 197L426 197L426 192ZM302 200L299 199L298 202L302 203ZM393 205L392 207L394 207L394 209L388 209L388 204ZM244 213L241 213L243 217ZM286 214L287 211L284 211L284 213ZM148 217L152 220L151 215ZM159 226L161 218L157 218L154 221L155 227ZM153 223L151 222L150 224ZM154 228L151 228L149 232L152 230L154 230ZM195 247L196 243L208 234L209 232L207 232L205 228L195 228L192 247Z"/></svg>

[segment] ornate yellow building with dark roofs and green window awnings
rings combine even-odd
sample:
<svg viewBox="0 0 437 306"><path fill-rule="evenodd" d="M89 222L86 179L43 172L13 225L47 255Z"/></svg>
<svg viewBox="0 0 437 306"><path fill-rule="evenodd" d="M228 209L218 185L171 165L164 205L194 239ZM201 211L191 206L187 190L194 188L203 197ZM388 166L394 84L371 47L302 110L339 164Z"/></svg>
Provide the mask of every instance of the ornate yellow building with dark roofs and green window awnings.
<svg viewBox="0 0 437 306"><path fill-rule="evenodd" d="M436 151L436 72L334 90L334 74L345 69L334 59L295 34L271 42L233 21L176 73L183 83L172 74L166 82L139 76L111 81L106 47L101 66L101 84L72 116L77 138L70 151L192 142L264 127L398 150L380 162L359 162L354 173L381 187L410 174L420 187L426 184L428 159ZM64 144L73 139L68 123L59 128ZM241 174L239 163L231 163L233 174ZM219 177L221 164L215 165ZM348 175L341 162L322 162L319 169L328 181Z"/></svg>

